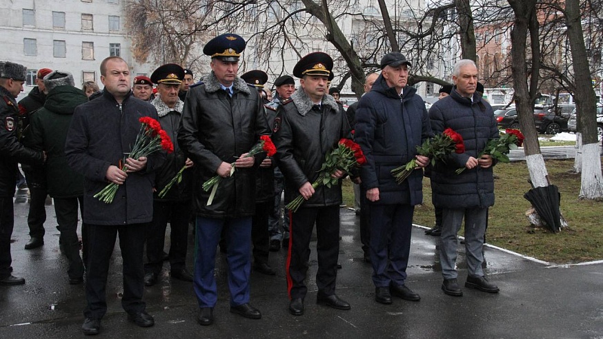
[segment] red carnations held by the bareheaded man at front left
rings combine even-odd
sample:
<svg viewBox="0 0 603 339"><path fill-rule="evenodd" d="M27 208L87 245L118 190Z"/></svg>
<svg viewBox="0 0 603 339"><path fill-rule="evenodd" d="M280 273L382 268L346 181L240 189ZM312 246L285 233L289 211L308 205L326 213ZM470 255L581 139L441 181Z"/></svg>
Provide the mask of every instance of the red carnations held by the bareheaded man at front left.
<svg viewBox="0 0 603 339"><path fill-rule="evenodd" d="M132 147L128 156L124 156L119 161L119 168L123 172L128 170L128 167L126 167L126 158L138 159L141 156L148 156L158 150L165 150L168 153L174 152L174 144L172 144L168 133L161 129L159 121L148 116L143 116L138 121L140 121L142 126L136 136L134 147ZM110 183L101 189L101 192L95 194L94 197L99 198L103 203L110 204L113 202L118 187L119 185L116 183Z"/></svg>

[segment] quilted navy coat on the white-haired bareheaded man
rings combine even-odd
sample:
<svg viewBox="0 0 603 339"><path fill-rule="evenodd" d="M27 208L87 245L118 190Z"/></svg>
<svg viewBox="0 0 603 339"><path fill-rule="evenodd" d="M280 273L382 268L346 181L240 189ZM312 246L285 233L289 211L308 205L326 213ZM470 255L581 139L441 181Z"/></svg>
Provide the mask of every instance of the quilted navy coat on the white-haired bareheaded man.
<svg viewBox="0 0 603 339"><path fill-rule="evenodd" d="M477 158L484 150L488 139L498 138L500 133L489 103L474 94L470 99L460 96L453 89L450 96L437 101L429 110L434 133L442 133L450 127L461 134L465 152L453 153L446 163L436 163L431 174L433 205L442 208L485 208L494 205L494 179L492 167L480 166L465 169L461 174L455 170L465 167L469 156Z"/></svg>

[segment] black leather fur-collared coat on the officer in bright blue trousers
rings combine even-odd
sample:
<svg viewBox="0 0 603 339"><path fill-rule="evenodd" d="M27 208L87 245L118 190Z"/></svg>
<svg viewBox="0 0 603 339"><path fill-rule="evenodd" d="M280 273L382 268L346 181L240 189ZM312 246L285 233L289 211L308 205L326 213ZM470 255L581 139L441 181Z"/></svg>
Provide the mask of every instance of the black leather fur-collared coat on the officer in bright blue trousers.
<svg viewBox="0 0 603 339"><path fill-rule="evenodd" d="M223 161L235 162L259 136L269 134L261 98L245 81L235 79L232 97L221 89L213 72L189 88L178 143L195 163L192 205L197 215L241 218L255 213L255 174L266 153L255 157L254 167L237 168L233 176L223 178L209 206L211 191L205 192L202 186Z"/></svg>

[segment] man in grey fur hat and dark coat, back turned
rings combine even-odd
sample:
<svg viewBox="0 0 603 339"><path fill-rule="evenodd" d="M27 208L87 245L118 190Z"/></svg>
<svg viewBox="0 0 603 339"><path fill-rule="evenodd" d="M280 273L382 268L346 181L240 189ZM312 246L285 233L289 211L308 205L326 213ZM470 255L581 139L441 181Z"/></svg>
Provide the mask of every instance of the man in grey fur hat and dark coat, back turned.
<svg viewBox="0 0 603 339"><path fill-rule="evenodd" d="M84 271L77 238L78 205L83 211L83 176L67 165L65 140L75 107L88 102L88 96L74 87L73 76L69 72L51 72L44 83L48 92L46 103L32 115L24 143L48 154L45 170L48 194L55 202L61 251L69 260L68 281L77 285L83 283ZM86 250L88 243L83 225L81 234Z"/></svg>

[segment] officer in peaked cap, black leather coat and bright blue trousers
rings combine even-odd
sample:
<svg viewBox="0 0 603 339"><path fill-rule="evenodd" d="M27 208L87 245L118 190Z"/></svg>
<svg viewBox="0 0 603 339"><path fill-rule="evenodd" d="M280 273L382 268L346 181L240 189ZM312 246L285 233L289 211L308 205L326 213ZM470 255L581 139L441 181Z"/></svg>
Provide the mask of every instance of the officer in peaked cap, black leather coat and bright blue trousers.
<svg viewBox="0 0 603 339"><path fill-rule="evenodd" d="M178 131L180 147L195 163L192 205L197 214L198 246L194 287L200 325L211 325L214 319L215 256L224 227L230 312L261 318L260 311L249 303L249 254L256 169L266 154L247 155L259 137L270 132L257 90L237 76L244 49L244 39L230 33L205 45L212 72L188 90ZM203 183L216 175L221 178L217 189L205 192Z"/></svg>

